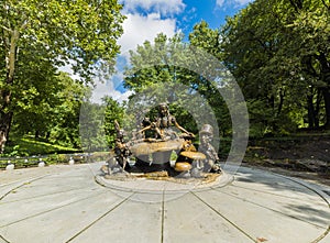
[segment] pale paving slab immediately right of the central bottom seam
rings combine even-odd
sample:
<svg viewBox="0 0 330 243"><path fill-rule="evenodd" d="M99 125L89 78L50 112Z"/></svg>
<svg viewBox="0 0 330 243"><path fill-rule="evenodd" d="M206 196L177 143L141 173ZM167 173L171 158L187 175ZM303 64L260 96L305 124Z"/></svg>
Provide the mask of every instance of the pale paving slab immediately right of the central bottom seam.
<svg viewBox="0 0 330 243"><path fill-rule="evenodd" d="M194 195L165 203L164 242L253 242Z"/></svg>

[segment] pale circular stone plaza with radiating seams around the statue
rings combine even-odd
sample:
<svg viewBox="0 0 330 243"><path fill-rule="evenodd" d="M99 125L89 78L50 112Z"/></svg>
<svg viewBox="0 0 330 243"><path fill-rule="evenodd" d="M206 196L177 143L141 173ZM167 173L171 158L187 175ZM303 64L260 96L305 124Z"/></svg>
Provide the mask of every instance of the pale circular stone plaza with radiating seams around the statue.
<svg viewBox="0 0 330 243"><path fill-rule="evenodd" d="M246 167L209 185L111 180L102 165L0 172L0 243L330 242L327 186Z"/></svg>

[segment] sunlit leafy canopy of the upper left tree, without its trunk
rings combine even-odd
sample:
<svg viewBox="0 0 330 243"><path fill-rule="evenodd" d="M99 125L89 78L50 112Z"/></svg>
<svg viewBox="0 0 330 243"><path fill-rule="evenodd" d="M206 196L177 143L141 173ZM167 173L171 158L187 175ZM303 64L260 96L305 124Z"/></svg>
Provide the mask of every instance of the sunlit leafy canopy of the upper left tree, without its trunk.
<svg viewBox="0 0 330 243"><path fill-rule="evenodd" d="M97 68L94 64L100 59L113 64L119 52L116 40L122 33L123 16L117 1L6 0L2 7L2 41L14 41L11 44L21 48L23 55L29 52L55 65L74 60L75 70L89 78L92 68ZM18 40L12 38L13 31L19 32Z"/></svg>

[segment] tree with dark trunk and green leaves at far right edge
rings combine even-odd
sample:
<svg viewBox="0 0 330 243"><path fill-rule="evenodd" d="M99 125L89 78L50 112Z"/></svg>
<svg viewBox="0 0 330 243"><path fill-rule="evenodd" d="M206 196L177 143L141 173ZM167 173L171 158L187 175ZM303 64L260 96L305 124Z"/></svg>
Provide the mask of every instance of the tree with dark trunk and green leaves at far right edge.
<svg viewBox="0 0 330 243"><path fill-rule="evenodd" d="M308 81L307 109L309 126L320 123L320 103L323 99L323 124L330 129L330 4L324 0L290 0L286 2L290 15L280 14L295 38L283 52L292 51ZM287 36L289 38L289 36Z"/></svg>

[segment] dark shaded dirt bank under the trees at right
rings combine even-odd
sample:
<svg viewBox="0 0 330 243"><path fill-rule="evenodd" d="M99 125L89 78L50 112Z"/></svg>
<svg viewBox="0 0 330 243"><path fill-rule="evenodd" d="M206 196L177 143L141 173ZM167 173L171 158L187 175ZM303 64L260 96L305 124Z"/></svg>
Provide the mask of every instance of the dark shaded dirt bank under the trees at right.
<svg viewBox="0 0 330 243"><path fill-rule="evenodd" d="M252 140L243 165L330 186L330 136Z"/></svg>

